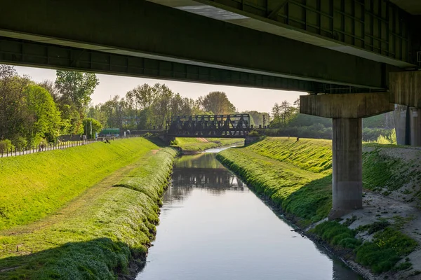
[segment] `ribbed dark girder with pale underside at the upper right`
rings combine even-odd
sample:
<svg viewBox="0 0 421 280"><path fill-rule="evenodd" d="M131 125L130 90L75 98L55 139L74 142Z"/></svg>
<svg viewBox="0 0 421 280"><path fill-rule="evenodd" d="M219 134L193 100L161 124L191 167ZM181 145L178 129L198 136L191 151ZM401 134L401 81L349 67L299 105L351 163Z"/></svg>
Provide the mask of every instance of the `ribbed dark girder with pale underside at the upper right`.
<svg viewBox="0 0 421 280"><path fill-rule="evenodd" d="M148 1L402 68L417 64L411 30L421 21L389 1Z"/></svg>

